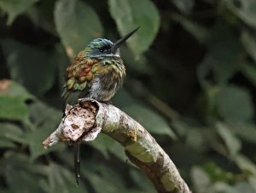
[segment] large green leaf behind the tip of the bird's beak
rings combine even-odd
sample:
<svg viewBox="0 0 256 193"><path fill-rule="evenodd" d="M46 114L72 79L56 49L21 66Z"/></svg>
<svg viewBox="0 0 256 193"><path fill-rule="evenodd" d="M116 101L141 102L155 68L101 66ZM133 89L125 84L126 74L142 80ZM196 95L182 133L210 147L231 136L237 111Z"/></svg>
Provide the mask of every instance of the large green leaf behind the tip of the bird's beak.
<svg viewBox="0 0 256 193"><path fill-rule="evenodd" d="M122 36L141 28L126 42L135 56L148 50L159 27L160 15L154 3L149 0L109 0L109 11Z"/></svg>

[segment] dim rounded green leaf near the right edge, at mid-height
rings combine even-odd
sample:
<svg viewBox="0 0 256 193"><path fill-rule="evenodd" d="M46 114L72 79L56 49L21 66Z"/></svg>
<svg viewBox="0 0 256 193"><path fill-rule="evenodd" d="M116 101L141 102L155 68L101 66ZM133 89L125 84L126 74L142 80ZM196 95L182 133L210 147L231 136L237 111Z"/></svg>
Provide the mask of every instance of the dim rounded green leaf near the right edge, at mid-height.
<svg viewBox="0 0 256 193"><path fill-rule="evenodd" d="M244 88L221 88L216 94L218 113L225 122L247 122L253 118L253 101Z"/></svg>

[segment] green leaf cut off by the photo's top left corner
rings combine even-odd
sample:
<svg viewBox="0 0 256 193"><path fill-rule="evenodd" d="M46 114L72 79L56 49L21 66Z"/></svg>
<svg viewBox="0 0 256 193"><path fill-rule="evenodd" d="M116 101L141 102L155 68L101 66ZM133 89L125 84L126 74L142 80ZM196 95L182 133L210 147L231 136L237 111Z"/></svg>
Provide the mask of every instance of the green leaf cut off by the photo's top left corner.
<svg viewBox="0 0 256 193"><path fill-rule="evenodd" d="M8 13L7 24L10 25L15 18L30 8L38 0L0 0L0 8Z"/></svg>

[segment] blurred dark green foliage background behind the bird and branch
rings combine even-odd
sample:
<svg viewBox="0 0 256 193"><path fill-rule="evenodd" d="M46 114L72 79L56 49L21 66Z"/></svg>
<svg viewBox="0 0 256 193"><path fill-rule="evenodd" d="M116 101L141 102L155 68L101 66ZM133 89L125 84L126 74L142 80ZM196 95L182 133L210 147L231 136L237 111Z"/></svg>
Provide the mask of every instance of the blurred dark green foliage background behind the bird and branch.
<svg viewBox="0 0 256 193"><path fill-rule="evenodd" d="M127 77L113 99L171 156L194 192L256 192L254 0L0 0L1 192L155 192L107 136L44 150L73 56L116 40Z"/></svg>

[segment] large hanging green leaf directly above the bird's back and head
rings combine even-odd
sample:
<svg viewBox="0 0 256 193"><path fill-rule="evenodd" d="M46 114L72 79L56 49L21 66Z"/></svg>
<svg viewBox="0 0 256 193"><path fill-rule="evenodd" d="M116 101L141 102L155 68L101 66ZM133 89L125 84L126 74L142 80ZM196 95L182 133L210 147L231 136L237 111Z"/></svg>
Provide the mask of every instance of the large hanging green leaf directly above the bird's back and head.
<svg viewBox="0 0 256 193"><path fill-rule="evenodd" d="M102 24L87 3L59 0L55 5L55 26L67 54L73 57L96 37L102 37Z"/></svg>

